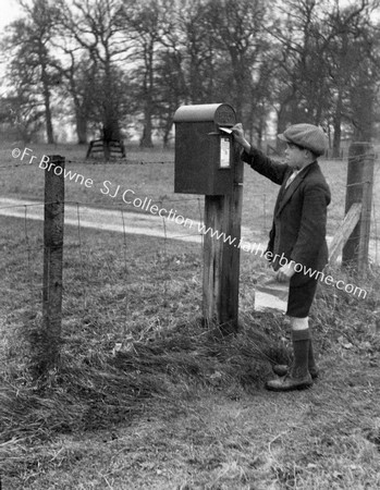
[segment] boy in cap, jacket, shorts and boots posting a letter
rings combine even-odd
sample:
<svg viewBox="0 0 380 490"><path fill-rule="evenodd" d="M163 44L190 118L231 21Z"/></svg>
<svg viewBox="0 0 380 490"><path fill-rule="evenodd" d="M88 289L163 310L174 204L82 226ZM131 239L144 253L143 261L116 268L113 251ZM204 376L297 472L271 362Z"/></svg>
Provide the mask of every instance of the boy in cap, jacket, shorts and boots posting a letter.
<svg viewBox="0 0 380 490"><path fill-rule="evenodd" d="M242 124L233 126L233 135L244 148L242 159L281 185L268 252L277 280L290 281L286 315L291 321L294 360L289 369L274 366L274 372L282 377L268 381L266 388L302 390L311 387L312 378L318 377L308 314L317 289L315 277L328 262L326 223L331 195L317 161L326 151L326 136L312 124L290 126L279 135L286 142L285 163L279 163L245 139Z"/></svg>

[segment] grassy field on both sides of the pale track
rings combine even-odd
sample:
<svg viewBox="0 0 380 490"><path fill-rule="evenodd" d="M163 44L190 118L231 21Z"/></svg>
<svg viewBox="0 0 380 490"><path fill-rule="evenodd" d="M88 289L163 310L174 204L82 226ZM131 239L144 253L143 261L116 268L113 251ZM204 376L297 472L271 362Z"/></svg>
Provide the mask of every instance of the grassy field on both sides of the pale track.
<svg viewBox="0 0 380 490"><path fill-rule="evenodd" d="M1 197L42 199L44 172L8 167L17 163L11 150L1 149ZM170 150L130 149L130 164L83 163L78 147L33 151L64 155L94 180L94 188L69 182L68 201L123 206L99 192L108 180L201 218L198 196L172 192ZM333 194L333 234L344 213L346 162L321 167ZM243 225L255 240L268 233L275 191L246 169ZM225 339L200 323L198 244L83 230L78 246L77 230L68 226L61 365L35 383L28 341L40 320L41 223L0 223L2 488L380 487L377 265L359 278L332 271L368 296L319 290L310 323L321 379L305 392L274 394L263 382L273 363L289 359L289 329L281 316L253 309L254 283L266 270L257 257L242 254L241 330Z"/></svg>

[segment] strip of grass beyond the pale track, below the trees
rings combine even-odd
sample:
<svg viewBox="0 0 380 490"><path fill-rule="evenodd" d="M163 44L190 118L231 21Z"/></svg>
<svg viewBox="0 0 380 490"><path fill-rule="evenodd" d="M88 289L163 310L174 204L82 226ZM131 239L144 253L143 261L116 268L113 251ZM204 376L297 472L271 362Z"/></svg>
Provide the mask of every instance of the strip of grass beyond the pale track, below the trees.
<svg viewBox="0 0 380 490"><path fill-rule="evenodd" d="M14 144L13 146L16 146ZM19 148L24 146L19 144ZM148 149L140 150L132 147L127 148L127 163L95 163L85 162L86 148L73 145L29 145L30 156L36 156L32 166L15 164L23 163L19 159L12 158L12 145L2 144L0 148L2 175L0 192L2 196L25 197L32 199L42 199L44 196L44 171L38 168L38 162L44 155L62 155L66 158L69 169L91 179L94 185L85 187L78 183L66 181L66 200L91 204L106 208L121 207L125 210L142 212L139 208L126 205L122 200L122 192L132 189L135 195L144 199L151 198L152 201L161 206L170 206L177 210L177 213L193 220L203 219L204 199L203 196L179 195L173 193L174 182L174 154L173 150ZM25 162L27 162L25 157ZM328 233L334 234L336 228L344 218L345 206L345 184L347 161L330 160L320 162L322 171L328 180L332 193L332 203L329 206ZM7 168L7 166L10 166ZM380 229L379 196L380 180L378 167L376 167L376 177L373 187L373 213L372 213L372 236L378 235ZM103 182L109 181L110 192L103 195ZM256 236L266 237L271 225L272 210L274 208L278 186L269 180L245 168L244 176L244 205L242 223L252 230ZM117 197L112 198L118 185L120 191Z"/></svg>

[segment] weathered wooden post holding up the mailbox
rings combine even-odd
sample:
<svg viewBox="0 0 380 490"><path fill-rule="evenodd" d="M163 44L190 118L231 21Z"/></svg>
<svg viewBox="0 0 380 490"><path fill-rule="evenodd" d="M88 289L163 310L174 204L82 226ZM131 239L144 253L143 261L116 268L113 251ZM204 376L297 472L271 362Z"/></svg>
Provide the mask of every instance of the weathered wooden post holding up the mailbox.
<svg viewBox="0 0 380 490"><path fill-rule="evenodd" d="M218 235L205 235L203 313L204 320L219 324L224 334L238 329L243 162L237 145L234 142L232 145L234 183L231 193L205 197L206 230L211 228ZM228 237L233 243L225 241Z"/></svg>

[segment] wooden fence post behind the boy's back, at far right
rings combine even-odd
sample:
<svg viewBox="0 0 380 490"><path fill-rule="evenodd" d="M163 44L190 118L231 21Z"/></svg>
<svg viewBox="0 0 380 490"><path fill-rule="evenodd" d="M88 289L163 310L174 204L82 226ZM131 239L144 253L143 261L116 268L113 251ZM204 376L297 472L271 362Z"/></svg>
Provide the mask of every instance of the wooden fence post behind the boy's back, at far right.
<svg viewBox="0 0 380 490"><path fill-rule="evenodd" d="M343 247L342 265L363 271L368 264L375 154L369 143L353 143L348 150L345 213L361 203L361 215Z"/></svg>

